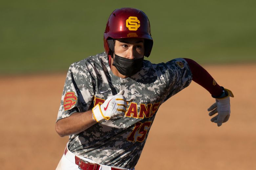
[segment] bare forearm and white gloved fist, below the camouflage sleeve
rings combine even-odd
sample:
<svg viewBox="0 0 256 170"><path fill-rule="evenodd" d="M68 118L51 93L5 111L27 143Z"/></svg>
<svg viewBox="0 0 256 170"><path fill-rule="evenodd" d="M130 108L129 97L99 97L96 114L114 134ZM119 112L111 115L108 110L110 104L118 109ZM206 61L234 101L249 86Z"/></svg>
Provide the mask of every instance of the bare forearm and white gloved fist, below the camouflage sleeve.
<svg viewBox="0 0 256 170"><path fill-rule="evenodd" d="M97 104L92 110L75 112L69 117L58 120L55 124L56 132L61 137L77 134L97 122L101 123L116 116L124 116L127 103L123 94L124 90L121 90L116 95L108 97L101 106Z"/></svg>

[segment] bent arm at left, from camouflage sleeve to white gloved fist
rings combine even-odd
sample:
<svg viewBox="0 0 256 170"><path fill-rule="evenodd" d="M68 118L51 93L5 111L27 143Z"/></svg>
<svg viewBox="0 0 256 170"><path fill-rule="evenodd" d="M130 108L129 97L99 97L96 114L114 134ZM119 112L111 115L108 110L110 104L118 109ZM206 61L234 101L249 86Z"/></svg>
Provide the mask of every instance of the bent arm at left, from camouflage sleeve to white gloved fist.
<svg viewBox="0 0 256 170"><path fill-rule="evenodd" d="M124 91L109 96L102 106L92 108L96 73L94 67L86 60L73 63L68 71L60 108L55 124L60 136L80 133L94 124L124 115L126 100Z"/></svg>

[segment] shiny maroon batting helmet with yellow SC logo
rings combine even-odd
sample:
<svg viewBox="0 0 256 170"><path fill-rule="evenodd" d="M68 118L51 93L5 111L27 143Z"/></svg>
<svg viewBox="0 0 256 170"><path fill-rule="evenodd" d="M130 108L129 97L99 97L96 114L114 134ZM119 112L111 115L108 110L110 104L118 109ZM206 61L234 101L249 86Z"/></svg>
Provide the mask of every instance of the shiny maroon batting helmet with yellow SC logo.
<svg viewBox="0 0 256 170"><path fill-rule="evenodd" d="M114 52L114 40L119 38L143 38L145 53L150 55L153 39L147 15L135 8L121 8L114 10L108 18L104 32L104 48L107 55Z"/></svg>

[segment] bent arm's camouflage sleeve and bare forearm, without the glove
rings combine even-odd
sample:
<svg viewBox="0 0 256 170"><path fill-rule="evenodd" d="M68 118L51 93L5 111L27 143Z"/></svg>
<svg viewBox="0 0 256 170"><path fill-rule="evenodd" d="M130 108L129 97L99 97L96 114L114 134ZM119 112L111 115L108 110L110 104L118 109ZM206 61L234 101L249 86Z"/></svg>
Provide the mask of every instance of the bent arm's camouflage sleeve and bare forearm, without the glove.
<svg viewBox="0 0 256 170"><path fill-rule="evenodd" d="M68 70L55 124L61 137L80 133L96 123L91 106L95 91L91 67L89 62L81 61Z"/></svg>

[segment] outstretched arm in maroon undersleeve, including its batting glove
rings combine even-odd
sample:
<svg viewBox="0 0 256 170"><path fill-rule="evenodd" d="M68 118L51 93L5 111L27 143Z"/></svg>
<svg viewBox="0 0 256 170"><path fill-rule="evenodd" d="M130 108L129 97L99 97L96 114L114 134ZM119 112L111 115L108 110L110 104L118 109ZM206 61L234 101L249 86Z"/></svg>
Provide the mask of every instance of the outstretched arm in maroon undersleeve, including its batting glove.
<svg viewBox="0 0 256 170"><path fill-rule="evenodd" d="M185 58L184 58L185 59ZM230 116L230 99L229 97L234 97L233 93L219 86L218 83L213 79L213 77L197 62L192 59L185 59L192 73L192 80L205 88L212 97L216 99L209 109L209 116L218 113L215 117L211 119L211 122L217 123L221 126L222 123L228 121Z"/></svg>

